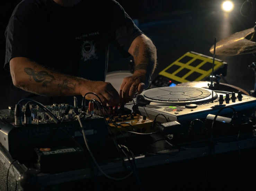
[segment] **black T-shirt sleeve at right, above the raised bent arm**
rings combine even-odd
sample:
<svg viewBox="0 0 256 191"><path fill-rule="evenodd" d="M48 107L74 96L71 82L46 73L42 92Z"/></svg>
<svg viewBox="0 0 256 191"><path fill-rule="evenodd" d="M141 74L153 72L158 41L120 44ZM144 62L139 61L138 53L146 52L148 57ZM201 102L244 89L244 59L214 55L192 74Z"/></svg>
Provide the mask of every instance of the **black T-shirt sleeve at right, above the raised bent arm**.
<svg viewBox="0 0 256 191"><path fill-rule="evenodd" d="M115 0L109 1L109 23L114 33L112 43L118 48L128 51L133 40L143 34L134 24L122 6Z"/></svg>

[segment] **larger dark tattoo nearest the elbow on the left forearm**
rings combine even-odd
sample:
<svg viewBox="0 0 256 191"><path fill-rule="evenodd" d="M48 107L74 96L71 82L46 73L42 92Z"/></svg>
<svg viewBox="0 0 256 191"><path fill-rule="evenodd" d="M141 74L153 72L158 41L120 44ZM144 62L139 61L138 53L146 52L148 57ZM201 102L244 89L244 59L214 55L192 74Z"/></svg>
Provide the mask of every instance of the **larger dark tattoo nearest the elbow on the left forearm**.
<svg viewBox="0 0 256 191"><path fill-rule="evenodd" d="M52 76L51 74L48 74L47 71L35 71L36 66L34 66L34 68L24 68L24 72L26 72L28 74L28 78L31 81L33 77L33 79L35 80L35 82L43 82L43 87L47 87L48 83L51 83L53 80L55 80L54 76Z"/></svg>

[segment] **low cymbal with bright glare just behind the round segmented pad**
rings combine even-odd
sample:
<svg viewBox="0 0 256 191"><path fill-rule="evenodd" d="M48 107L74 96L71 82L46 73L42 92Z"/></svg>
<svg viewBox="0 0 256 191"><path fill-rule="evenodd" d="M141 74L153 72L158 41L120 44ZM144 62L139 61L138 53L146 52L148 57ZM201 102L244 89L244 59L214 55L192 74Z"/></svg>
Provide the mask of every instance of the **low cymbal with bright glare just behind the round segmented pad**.
<svg viewBox="0 0 256 191"><path fill-rule="evenodd" d="M209 82L209 81L193 81L193 82L179 83L179 84L177 84L177 86L209 89L208 83L211 83L211 82ZM218 90L218 91L227 91L227 92L236 92L236 93L237 93L237 91L241 91L242 94L249 96L249 93L247 91L245 91L241 88L238 88L236 86L233 86L233 85L230 85L227 83L219 83L219 84L216 84L216 82L213 82L213 83L215 84L213 87L213 91Z"/></svg>

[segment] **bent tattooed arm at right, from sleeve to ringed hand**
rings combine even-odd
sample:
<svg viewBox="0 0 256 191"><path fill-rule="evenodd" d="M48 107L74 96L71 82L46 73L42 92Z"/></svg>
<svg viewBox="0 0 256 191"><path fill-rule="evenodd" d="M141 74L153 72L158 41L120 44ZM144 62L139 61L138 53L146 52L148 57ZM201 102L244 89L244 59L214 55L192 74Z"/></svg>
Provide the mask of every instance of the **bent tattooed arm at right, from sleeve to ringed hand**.
<svg viewBox="0 0 256 191"><path fill-rule="evenodd" d="M149 86L157 64L156 47L144 34L134 39L128 52L133 56L135 66L133 76L125 78L120 87L121 103L128 96L133 97L136 91L141 93Z"/></svg>

